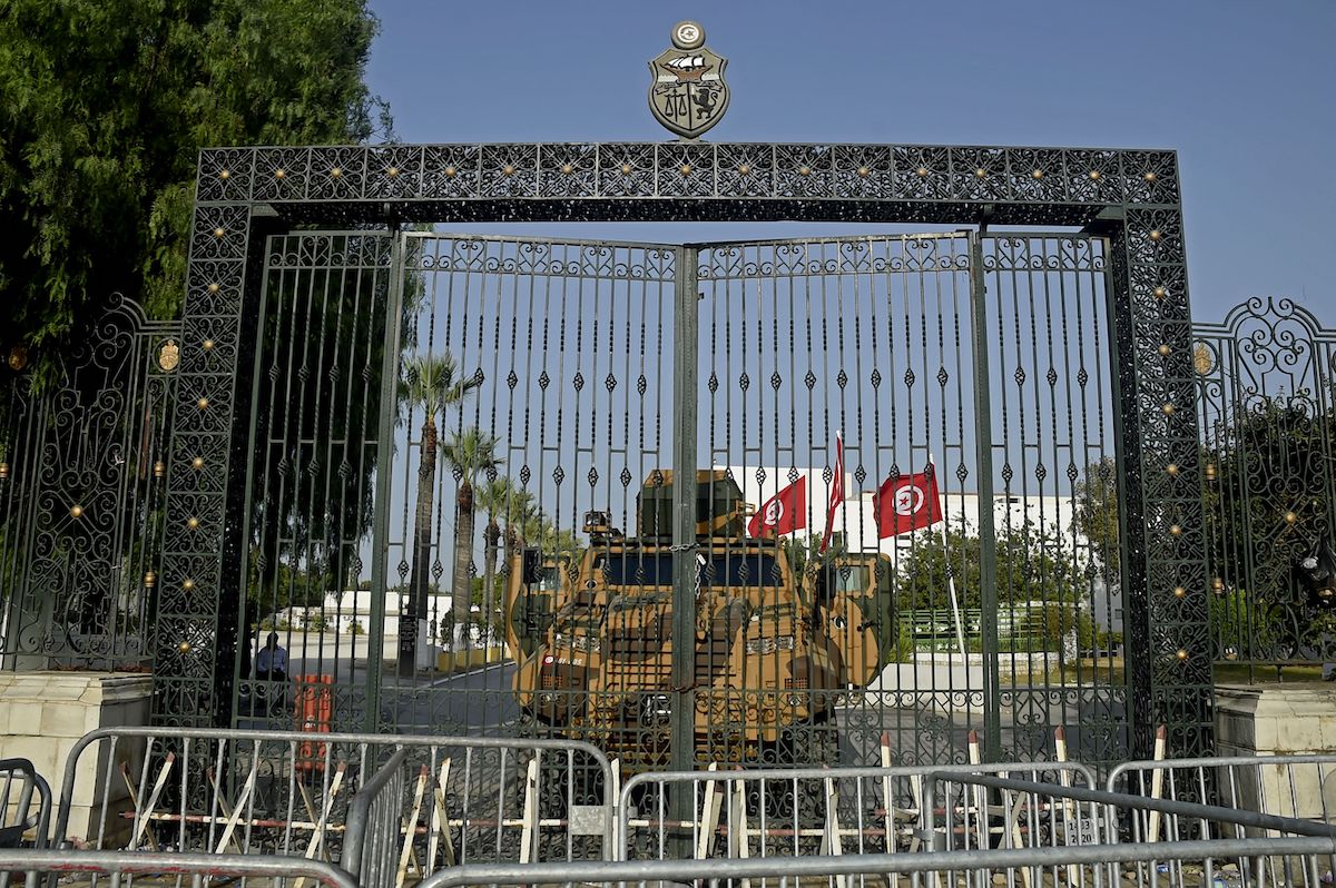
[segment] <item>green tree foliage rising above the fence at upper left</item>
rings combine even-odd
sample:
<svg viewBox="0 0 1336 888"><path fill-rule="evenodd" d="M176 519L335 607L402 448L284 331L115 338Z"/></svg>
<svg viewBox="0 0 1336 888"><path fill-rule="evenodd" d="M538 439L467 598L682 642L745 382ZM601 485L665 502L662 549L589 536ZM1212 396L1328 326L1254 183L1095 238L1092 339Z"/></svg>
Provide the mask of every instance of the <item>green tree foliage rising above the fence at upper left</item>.
<svg viewBox="0 0 1336 888"><path fill-rule="evenodd" d="M374 33L365 0L9 0L0 335L55 346L112 291L175 315L199 150L387 131Z"/></svg>

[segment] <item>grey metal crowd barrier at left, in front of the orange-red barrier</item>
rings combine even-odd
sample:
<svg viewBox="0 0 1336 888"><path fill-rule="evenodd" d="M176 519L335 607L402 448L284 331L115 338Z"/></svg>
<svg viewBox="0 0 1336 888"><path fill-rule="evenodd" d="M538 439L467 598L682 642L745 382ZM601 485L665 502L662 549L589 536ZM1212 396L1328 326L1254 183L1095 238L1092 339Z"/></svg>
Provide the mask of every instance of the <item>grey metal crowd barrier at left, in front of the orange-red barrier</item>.
<svg viewBox="0 0 1336 888"><path fill-rule="evenodd" d="M91 805L75 805L77 773L98 783L81 791ZM566 740L104 728L65 761L56 835L77 809L94 849L349 856L359 869L371 847L415 880L611 856L611 787L607 757Z"/></svg>

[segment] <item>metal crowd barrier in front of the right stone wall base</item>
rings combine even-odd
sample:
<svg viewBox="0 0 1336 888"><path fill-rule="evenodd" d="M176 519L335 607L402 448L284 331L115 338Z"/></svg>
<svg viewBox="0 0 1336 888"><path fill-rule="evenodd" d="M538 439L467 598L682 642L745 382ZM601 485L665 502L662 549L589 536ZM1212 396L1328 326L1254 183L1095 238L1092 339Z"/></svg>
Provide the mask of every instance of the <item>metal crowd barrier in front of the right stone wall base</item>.
<svg viewBox="0 0 1336 888"><path fill-rule="evenodd" d="M1130 761L1109 772L1108 789L1148 799L1336 823L1336 754L1232 756ZM1132 839L1220 839L1260 835L1256 827L1141 811L1122 824Z"/></svg>

